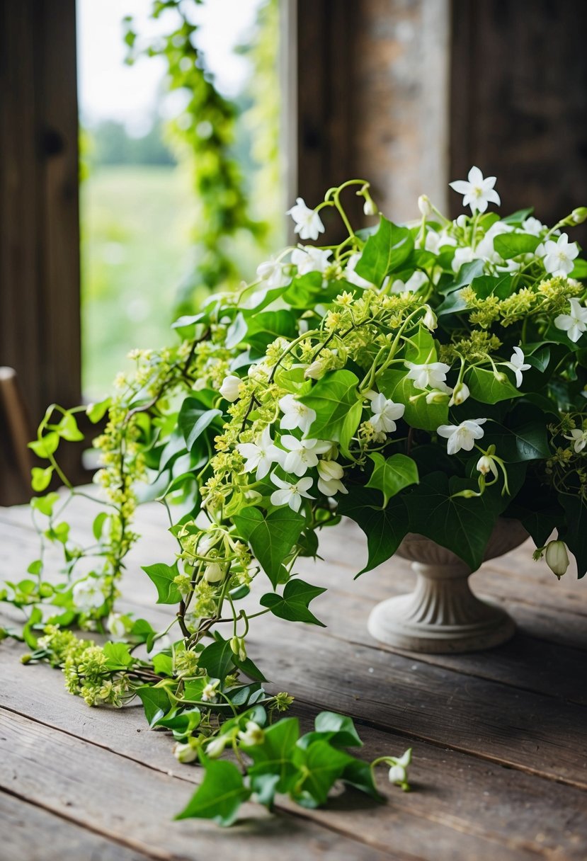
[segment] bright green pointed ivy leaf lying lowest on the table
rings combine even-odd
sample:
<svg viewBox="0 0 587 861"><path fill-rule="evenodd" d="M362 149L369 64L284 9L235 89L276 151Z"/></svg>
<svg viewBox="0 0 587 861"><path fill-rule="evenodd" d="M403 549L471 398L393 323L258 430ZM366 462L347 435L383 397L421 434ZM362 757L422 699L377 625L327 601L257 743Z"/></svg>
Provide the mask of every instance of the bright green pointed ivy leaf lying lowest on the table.
<svg viewBox="0 0 587 861"><path fill-rule="evenodd" d="M211 819L218 825L232 825L238 808L250 797L243 775L226 760L207 759L201 755L206 774L188 806L176 819Z"/></svg>

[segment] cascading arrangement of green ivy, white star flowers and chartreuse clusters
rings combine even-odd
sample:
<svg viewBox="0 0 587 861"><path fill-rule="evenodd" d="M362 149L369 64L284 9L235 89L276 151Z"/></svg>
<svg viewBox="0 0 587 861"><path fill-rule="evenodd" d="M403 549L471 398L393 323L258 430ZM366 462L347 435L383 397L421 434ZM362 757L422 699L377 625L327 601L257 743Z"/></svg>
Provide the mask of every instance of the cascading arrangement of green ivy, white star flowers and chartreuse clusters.
<svg viewBox="0 0 587 861"><path fill-rule="evenodd" d="M320 804L338 779L374 794L380 762L408 788L410 753L361 764L343 750L356 739L341 715L318 715L301 737L295 718L273 722L292 698L266 693L247 652L260 616L321 624L310 604L324 589L296 567L318 553L322 528L358 523L363 571L407 532L474 570L497 518L515 517L557 576L569 553L587 570L587 263L566 232L587 209L553 227L529 209L500 218L488 211L495 184L473 168L453 183L470 215L448 220L423 196L417 221L381 216L357 232L342 199L355 191L374 214L368 183L329 189L316 208L299 198L289 213L300 244L177 320L181 344L134 354L115 398L90 408L94 419L108 410L96 544L75 544L63 518L80 491L33 500L64 576L46 576L41 554L4 598L25 611L34 657L62 666L72 692L93 704L139 696L177 759L205 766L183 815L227 823L244 799L270 806L275 792ZM347 238L306 244L324 233L326 208ZM77 433L73 411L47 413L35 489L53 473L66 484L56 452ZM164 504L177 542L174 558L144 569L158 603L176 605L158 633L114 609L139 493ZM251 604L256 577L265 588ZM63 631L73 623L113 642L77 641ZM238 765L219 761L225 752Z"/></svg>

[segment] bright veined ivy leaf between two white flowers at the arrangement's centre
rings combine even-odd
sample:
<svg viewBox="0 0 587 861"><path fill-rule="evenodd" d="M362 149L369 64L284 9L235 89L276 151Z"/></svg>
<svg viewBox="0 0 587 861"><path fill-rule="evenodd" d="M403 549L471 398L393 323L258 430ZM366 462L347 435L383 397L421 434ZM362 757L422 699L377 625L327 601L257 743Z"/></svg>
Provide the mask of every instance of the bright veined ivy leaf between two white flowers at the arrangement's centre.
<svg viewBox="0 0 587 861"><path fill-rule="evenodd" d="M312 391L299 400L316 412L308 436L332 439L347 451L361 421L358 377L352 371L331 371L318 380Z"/></svg>

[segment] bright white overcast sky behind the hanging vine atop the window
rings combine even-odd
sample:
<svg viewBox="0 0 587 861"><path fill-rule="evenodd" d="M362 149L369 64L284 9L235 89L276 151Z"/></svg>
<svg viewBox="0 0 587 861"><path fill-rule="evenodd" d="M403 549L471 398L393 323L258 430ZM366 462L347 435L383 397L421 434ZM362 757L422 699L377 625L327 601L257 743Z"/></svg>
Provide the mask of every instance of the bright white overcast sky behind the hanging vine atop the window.
<svg viewBox="0 0 587 861"><path fill-rule="evenodd" d="M232 53L246 39L255 21L260 0L207 0L195 6L201 22L199 46L219 88L234 95L242 87L248 63ZM133 15L140 33L165 32L168 23L149 20L151 0L77 0L77 69L79 105L85 123L114 119L131 133L148 131L158 89L164 75L164 59L139 59L124 64L122 18ZM170 13L172 14L172 13ZM174 112L173 100L166 113Z"/></svg>

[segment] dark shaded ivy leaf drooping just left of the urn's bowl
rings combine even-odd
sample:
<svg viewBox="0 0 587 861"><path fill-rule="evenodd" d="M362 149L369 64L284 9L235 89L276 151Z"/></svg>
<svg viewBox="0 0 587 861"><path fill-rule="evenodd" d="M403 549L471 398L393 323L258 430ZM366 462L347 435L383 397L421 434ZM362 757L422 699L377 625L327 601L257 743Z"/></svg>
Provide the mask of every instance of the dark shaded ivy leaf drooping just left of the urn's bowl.
<svg viewBox="0 0 587 861"><path fill-rule="evenodd" d="M368 561L357 577L390 559L411 526L401 497L382 509L379 494L361 486L349 487L348 496L338 501L338 513L358 523L367 536Z"/></svg>

